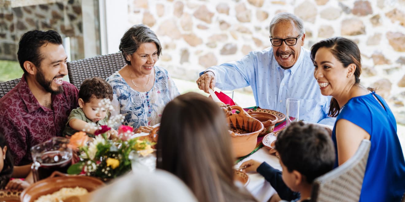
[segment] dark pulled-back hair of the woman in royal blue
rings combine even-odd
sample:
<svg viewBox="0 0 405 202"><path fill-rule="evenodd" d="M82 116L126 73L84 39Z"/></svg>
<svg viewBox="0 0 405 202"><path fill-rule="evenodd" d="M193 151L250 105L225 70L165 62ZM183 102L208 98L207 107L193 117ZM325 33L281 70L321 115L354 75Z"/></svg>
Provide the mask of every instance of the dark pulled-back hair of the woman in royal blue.
<svg viewBox="0 0 405 202"><path fill-rule="evenodd" d="M319 48L328 48L330 53L339 60L343 67L348 67L350 64L356 65L356 70L354 71L355 84L360 84L360 74L361 74L361 56L360 50L356 43L352 40L343 37L334 37L322 40L314 44L311 48L311 59L315 61L316 52ZM368 88L373 90L372 88ZM340 107L335 98L330 100L330 108L328 115L331 117L337 117L339 115Z"/></svg>

